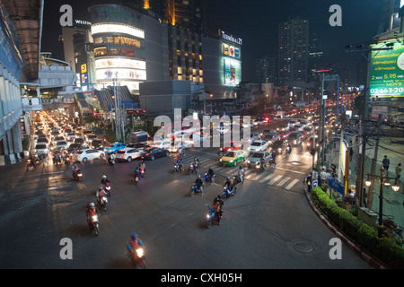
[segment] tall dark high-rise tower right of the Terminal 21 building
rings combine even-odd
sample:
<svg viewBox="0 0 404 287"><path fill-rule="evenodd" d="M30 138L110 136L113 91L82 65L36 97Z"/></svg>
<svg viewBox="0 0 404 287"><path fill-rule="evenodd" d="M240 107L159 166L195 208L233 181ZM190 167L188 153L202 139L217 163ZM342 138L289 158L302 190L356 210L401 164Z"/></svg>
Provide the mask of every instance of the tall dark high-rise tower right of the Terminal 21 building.
<svg viewBox="0 0 404 287"><path fill-rule="evenodd" d="M279 24L279 84L307 81L309 63L309 21L295 18Z"/></svg>

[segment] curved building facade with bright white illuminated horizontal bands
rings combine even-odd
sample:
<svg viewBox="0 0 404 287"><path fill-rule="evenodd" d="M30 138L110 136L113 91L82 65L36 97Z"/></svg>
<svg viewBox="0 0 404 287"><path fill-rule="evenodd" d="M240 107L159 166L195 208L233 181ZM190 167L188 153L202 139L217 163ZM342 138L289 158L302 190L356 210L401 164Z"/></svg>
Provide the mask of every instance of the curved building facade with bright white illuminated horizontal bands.
<svg viewBox="0 0 404 287"><path fill-rule="evenodd" d="M98 88L118 80L138 92L139 83L146 80L143 15L116 4L92 6L89 12Z"/></svg>

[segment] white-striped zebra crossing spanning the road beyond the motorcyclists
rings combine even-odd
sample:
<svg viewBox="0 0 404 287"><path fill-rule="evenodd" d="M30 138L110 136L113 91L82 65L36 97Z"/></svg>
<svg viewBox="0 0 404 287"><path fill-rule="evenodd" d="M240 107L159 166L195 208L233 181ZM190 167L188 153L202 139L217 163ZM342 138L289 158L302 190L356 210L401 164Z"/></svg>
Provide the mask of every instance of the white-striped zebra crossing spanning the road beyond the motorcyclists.
<svg viewBox="0 0 404 287"><path fill-rule="evenodd" d="M185 170L188 171L189 162L194 160L194 156L195 154L188 154L182 159L182 164L184 165ZM232 175L237 174L240 169L240 165L236 167L220 166L217 158L215 158L214 156L206 158L206 156L198 156L198 160L200 161L202 166L201 176L202 172L206 172L209 166L212 167L212 169L215 171L216 176L221 175L224 177L232 177ZM173 159L177 159L176 154L171 154L170 157ZM277 168L275 170L277 170ZM290 178L285 175L277 175L274 173L275 170L268 169L264 172L257 172L255 169L247 168L244 169L244 178L250 181L258 181L259 183L267 184L268 186L281 187L286 190L290 190L299 184L300 179ZM301 172L296 171L296 173Z"/></svg>

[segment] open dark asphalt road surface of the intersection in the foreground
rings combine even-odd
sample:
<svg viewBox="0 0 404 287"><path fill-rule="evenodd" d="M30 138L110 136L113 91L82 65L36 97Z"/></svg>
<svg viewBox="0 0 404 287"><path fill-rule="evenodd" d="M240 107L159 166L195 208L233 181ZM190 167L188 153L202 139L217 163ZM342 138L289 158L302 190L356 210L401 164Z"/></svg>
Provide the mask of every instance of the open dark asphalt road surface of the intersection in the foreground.
<svg viewBox="0 0 404 287"><path fill-rule="evenodd" d="M261 127L264 128L264 127ZM303 193L303 178L312 166L305 143L277 168L246 171L237 195L225 201L221 225L206 230L208 205L222 193L224 178L238 168L220 168L216 148L193 148L203 172L213 166L216 183L204 196L189 197L195 176L172 173L172 157L146 161L145 178L134 185L138 161L79 163L83 182L70 167L25 164L0 168L1 268L132 268L125 257L130 233L145 243L148 269L352 269L372 268L342 243L342 258L330 259L335 238L313 213ZM186 161L187 162L187 161ZM187 163L185 163L187 167ZM85 205L95 201L101 176L111 181L100 235L87 227ZM71 239L73 259L59 256L61 239Z"/></svg>

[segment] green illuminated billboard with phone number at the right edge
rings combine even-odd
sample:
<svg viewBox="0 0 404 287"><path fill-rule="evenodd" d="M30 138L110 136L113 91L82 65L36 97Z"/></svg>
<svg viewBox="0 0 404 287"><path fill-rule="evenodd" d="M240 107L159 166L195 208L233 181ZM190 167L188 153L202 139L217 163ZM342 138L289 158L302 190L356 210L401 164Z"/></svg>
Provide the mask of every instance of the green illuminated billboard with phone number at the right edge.
<svg viewBox="0 0 404 287"><path fill-rule="evenodd" d="M370 71L371 97L404 97L404 45L392 42L390 50L372 51ZM386 43L372 48L387 48Z"/></svg>

